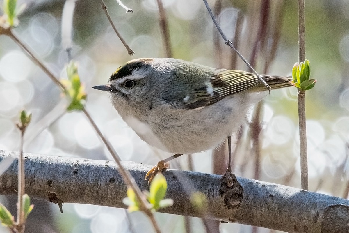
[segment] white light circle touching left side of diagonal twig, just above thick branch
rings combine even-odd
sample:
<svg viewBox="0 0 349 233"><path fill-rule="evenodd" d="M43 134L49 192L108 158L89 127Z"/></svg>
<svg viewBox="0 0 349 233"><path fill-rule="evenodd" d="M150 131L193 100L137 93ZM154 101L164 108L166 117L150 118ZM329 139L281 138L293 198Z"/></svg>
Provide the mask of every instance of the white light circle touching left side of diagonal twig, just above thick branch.
<svg viewBox="0 0 349 233"><path fill-rule="evenodd" d="M75 124L74 135L77 143L81 147L93 149L101 144L96 132L86 119L80 119L77 123L75 122Z"/></svg>

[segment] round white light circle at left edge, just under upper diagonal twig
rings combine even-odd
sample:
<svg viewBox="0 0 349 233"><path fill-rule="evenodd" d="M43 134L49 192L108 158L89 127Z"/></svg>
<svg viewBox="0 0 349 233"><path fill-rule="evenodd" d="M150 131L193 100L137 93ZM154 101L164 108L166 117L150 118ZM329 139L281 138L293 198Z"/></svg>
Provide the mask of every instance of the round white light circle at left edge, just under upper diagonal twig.
<svg viewBox="0 0 349 233"><path fill-rule="evenodd" d="M11 50L0 60L0 75L6 81L18 82L30 74L32 62L21 51Z"/></svg>

